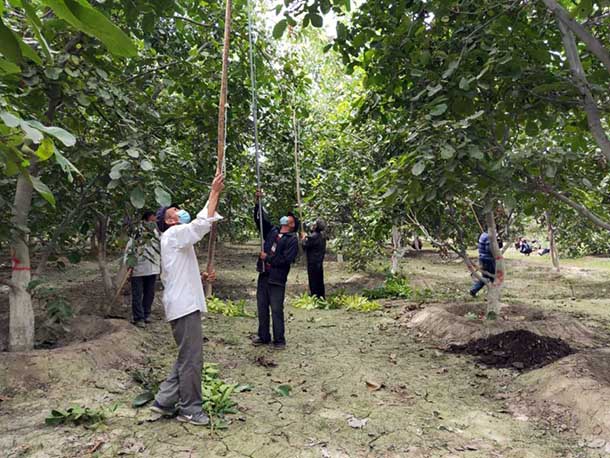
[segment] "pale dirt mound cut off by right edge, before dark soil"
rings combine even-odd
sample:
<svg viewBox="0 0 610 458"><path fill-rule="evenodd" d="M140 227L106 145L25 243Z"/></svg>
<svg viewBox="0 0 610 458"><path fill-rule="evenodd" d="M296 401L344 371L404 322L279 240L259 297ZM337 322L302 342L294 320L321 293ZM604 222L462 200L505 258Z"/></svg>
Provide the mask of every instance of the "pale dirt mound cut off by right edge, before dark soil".
<svg viewBox="0 0 610 458"><path fill-rule="evenodd" d="M610 348L579 352L519 378L512 409L560 418L610 453ZM561 425L560 425L561 426Z"/></svg>

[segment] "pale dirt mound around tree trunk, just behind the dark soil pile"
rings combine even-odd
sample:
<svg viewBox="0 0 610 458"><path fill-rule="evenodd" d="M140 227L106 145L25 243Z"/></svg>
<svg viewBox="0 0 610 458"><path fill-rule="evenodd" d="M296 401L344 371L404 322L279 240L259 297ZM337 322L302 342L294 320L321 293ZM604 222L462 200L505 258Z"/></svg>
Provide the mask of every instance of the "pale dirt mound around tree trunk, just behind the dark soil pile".
<svg viewBox="0 0 610 458"><path fill-rule="evenodd" d="M482 304L435 304L419 312L406 313L399 324L442 346L465 345L472 340L517 330L562 339L574 349L598 348L608 343L607 336L562 313L509 305L502 307L497 320L480 319L483 314Z"/></svg>

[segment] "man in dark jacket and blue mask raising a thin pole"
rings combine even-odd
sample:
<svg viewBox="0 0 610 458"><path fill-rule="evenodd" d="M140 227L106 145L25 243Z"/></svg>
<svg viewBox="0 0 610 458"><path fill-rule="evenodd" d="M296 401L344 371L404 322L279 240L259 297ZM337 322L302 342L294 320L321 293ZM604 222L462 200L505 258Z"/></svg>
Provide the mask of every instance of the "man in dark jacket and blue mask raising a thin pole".
<svg viewBox="0 0 610 458"><path fill-rule="evenodd" d="M273 319L273 346L277 349L286 347L284 335L284 297L286 281L290 266L299 252L296 234L298 220L292 213L280 218L280 226L271 224L264 210L259 209L260 197L257 192L257 205L254 207L254 222L260 227L259 216L262 214L264 249L256 264L259 272L256 289L258 308L258 336L252 341L254 345L271 343L269 333L269 308Z"/></svg>

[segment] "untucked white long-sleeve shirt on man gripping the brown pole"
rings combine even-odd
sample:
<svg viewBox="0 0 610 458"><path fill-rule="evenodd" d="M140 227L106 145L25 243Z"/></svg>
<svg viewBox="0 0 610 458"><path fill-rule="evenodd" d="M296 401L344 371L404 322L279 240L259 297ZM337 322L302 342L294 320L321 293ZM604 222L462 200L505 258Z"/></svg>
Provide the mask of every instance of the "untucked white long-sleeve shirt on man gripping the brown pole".
<svg viewBox="0 0 610 458"><path fill-rule="evenodd" d="M199 262L193 245L210 232L212 223L222 219L218 213L208 217L208 205L189 224L177 224L161 235L161 281L167 321L197 310L206 312Z"/></svg>

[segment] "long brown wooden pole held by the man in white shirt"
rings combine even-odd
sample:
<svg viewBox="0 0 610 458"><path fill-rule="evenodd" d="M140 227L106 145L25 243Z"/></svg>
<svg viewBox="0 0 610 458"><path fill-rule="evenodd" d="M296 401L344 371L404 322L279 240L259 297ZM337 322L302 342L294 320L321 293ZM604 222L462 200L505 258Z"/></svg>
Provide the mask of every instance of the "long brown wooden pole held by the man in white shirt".
<svg viewBox="0 0 610 458"><path fill-rule="evenodd" d="M229 82L229 44L231 39L231 0L226 0L225 12L225 36L222 50L222 76L220 80L220 102L218 104L218 147L216 174L224 169L225 142L226 142L226 105L227 105L227 86ZM208 244L208 275L214 271L214 255L216 254L216 223L212 224L210 231L210 241ZM206 296L212 296L212 283L205 285Z"/></svg>

